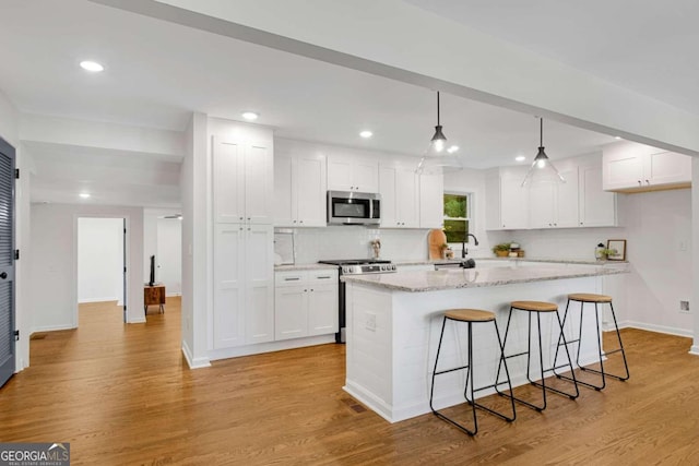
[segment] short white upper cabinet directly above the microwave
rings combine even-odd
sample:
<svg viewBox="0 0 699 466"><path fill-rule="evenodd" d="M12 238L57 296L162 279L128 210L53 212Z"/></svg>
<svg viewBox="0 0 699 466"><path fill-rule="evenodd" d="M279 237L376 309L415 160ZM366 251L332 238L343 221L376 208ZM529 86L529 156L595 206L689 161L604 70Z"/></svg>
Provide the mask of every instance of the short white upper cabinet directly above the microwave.
<svg viewBox="0 0 699 466"><path fill-rule="evenodd" d="M328 156L328 189L333 191L379 191L379 163L364 156Z"/></svg>

